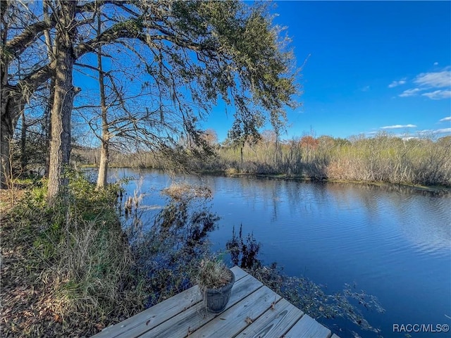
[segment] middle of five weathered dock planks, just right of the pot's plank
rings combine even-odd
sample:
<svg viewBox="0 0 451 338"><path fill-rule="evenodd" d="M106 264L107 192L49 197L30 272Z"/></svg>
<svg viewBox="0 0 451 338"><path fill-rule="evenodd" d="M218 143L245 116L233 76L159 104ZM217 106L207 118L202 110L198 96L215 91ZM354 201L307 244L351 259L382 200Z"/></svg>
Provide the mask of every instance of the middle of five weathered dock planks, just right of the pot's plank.
<svg viewBox="0 0 451 338"><path fill-rule="evenodd" d="M273 301L280 300L280 296L268 287L261 287L249 294L235 306L221 313L219 320L212 320L199 330L192 332L190 338L233 337L235 334L252 325L263 313L271 308Z"/></svg>

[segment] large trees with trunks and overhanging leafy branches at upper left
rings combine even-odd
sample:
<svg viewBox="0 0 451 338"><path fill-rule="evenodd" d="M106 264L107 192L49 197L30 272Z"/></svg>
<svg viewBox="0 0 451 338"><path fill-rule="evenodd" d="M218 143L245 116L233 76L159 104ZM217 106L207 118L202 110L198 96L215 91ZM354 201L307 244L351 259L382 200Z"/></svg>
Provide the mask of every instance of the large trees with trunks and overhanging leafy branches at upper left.
<svg viewBox="0 0 451 338"><path fill-rule="evenodd" d="M191 156L208 156L211 149L200 122L219 101L234 111L230 135L242 142L265 123L279 130L286 122L286 108L299 106L299 70L288 37L273 23L269 4L0 4L0 47L6 51L0 54L2 189L18 176L11 165L15 143L20 169L34 161L25 156L30 138L43 141L39 151L46 159L39 161L48 177L47 200L53 204L68 183L64 170L73 137L89 144L94 140L101 147L101 188L113 149L146 149L166 163L172 159L177 168ZM99 80L98 93L86 86L87 77ZM78 127L72 125L74 108Z"/></svg>

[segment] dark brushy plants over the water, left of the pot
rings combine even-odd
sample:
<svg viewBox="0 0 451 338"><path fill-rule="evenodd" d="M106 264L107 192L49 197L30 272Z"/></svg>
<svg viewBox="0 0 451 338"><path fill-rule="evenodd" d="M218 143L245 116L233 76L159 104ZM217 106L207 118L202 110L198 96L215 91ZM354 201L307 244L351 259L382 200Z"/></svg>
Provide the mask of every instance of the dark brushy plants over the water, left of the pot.
<svg viewBox="0 0 451 338"><path fill-rule="evenodd" d="M147 306L193 286L199 263L209 252L207 235L219 219L211 212L211 196L167 196L168 204L155 215L149 230L143 231L140 213L130 213L134 219L128 237L148 280Z"/></svg>

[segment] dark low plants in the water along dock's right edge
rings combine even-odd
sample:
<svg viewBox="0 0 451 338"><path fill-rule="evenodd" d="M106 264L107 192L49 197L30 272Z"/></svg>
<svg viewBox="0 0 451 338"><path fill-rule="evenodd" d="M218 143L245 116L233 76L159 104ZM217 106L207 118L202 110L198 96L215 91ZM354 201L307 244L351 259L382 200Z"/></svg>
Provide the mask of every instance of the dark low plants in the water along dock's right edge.
<svg viewBox="0 0 451 338"><path fill-rule="evenodd" d="M376 296L366 294L363 290L357 291L355 284L353 286L345 284L341 292L327 294L322 285L312 282L308 277L285 275L278 269L276 262L268 266L262 265L258 257L261 244L257 242L253 234L247 234L243 237L241 225L238 233L235 232L235 227L233 227L232 237L227 241L226 249L230 253L233 265L246 269L247 272L257 277L274 292L280 294L316 320L342 318L357 325L359 330L380 334L380 330L371 326L366 320L362 309L376 313L383 313L385 310ZM351 334L352 332L347 329L350 323L347 322L342 327L334 323L336 330L332 330L332 332L345 337L344 334L347 335L347 333ZM353 335L357 337L357 334Z"/></svg>

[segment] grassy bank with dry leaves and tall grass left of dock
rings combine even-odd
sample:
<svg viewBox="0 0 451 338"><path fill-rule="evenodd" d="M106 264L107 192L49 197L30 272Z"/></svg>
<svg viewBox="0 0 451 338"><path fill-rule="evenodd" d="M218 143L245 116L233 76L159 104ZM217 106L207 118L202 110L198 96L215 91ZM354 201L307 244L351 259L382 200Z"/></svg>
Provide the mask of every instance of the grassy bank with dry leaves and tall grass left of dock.
<svg viewBox="0 0 451 338"><path fill-rule="evenodd" d="M74 175L54 208L45 182L22 188L1 192L1 337L89 337L142 311L116 188L94 192Z"/></svg>

